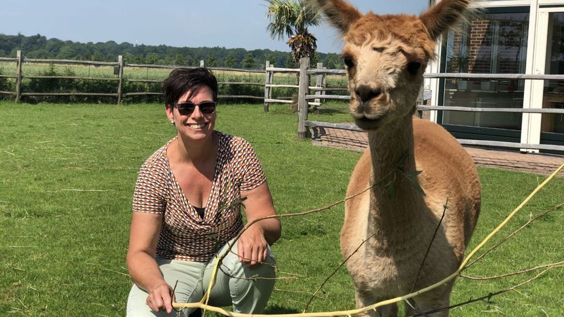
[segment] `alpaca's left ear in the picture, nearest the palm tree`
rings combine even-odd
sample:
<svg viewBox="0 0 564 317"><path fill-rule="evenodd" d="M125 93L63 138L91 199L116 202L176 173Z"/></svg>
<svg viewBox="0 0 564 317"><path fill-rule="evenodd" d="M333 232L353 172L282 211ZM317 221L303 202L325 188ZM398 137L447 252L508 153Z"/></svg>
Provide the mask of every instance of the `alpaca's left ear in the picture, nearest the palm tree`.
<svg viewBox="0 0 564 317"><path fill-rule="evenodd" d="M347 33L350 25L362 16L360 11L343 0L310 0L310 3L327 15L329 21L342 34Z"/></svg>

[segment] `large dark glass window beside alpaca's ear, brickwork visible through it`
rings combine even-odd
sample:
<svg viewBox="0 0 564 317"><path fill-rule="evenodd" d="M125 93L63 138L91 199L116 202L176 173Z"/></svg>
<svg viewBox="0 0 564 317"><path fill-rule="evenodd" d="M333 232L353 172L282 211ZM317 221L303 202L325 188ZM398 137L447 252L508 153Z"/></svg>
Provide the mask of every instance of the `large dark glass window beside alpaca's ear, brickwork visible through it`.
<svg viewBox="0 0 564 317"><path fill-rule="evenodd" d="M486 12L448 33L447 73L524 73L529 14ZM447 106L522 108L523 80L447 79ZM443 124L521 130L520 113L445 111Z"/></svg>

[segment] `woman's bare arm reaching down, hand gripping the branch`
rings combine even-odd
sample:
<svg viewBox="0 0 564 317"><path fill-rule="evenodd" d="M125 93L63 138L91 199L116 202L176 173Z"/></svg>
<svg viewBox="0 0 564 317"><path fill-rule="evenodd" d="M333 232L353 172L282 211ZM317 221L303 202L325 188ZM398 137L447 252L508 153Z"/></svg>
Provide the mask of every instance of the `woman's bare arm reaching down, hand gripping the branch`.
<svg viewBox="0 0 564 317"><path fill-rule="evenodd" d="M155 261L161 214L134 212L131 219L127 268L135 284L149 293L147 305L154 311L172 311L171 290Z"/></svg>

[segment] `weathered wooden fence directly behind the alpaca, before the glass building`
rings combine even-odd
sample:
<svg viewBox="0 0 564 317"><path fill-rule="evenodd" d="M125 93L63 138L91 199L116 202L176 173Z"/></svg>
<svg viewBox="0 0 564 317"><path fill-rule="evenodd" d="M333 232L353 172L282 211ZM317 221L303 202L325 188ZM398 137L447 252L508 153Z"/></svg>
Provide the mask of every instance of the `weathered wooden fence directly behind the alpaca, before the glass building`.
<svg viewBox="0 0 564 317"><path fill-rule="evenodd" d="M309 100L312 99L333 99L333 100L350 100L350 95L327 95L327 94L310 94L312 87L309 87L309 76L319 74L345 74L341 69L311 69L309 68L309 58L302 58L299 68L299 85L298 85L298 138L306 138L307 127L329 127L334 129L345 129L351 131L363 131L356 125L332 124L329 122L309 121L307 120L309 109ZM510 80L564 80L564 75L533 75L533 74L472 74L472 73L429 73L424 74L425 78L479 78L479 79L510 79ZM324 91L323 89L322 91ZM265 89L266 94L266 89ZM265 99L265 103L266 103ZM272 100L275 102L276 100ZM434 111L466 111L466 112L513 112L513 113L553 113L564 115L564 109L539 109L539 108L478 108L478 107L447 107L442 105L422 105L417 102L417 110L434 110ZM564 146L552 144L528 144L500 142L491 140L471 140L458 139L461 144L471 144L476 146L488 147L505 147L519 149L541 149L550 151L564 151Z"/></svg>

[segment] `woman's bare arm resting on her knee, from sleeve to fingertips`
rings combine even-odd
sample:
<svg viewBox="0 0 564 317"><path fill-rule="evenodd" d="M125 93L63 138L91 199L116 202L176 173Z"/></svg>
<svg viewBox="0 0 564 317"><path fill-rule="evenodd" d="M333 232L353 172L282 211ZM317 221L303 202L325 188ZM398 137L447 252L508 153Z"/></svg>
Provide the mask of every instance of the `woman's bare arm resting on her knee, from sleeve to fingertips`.
<svg viewBox="0 0 564 317"><path fill-rule="evenodd" d="M241 192L245 205L247 222L275 215L272 195L266 182L250 191ZM263 262L267 255L267 245L272 245L280 238L280 219L270 218L254 223L239 238L237 249L239 261L253 267Z"/></svg>

